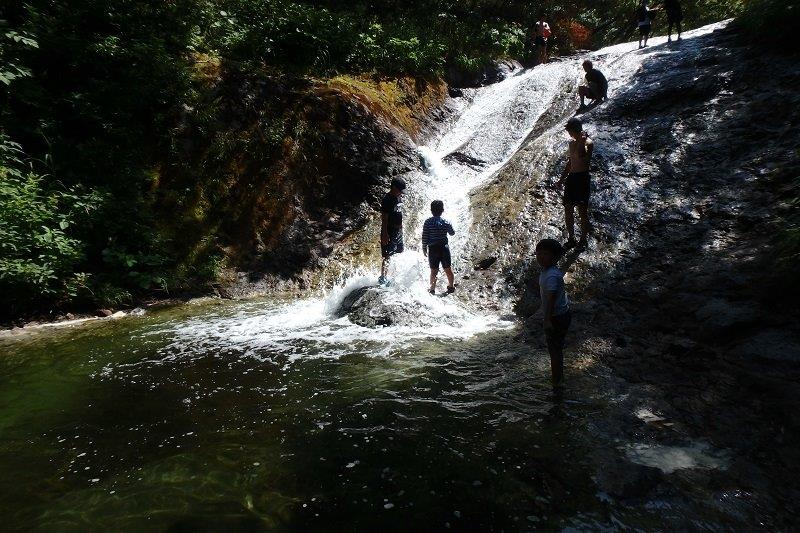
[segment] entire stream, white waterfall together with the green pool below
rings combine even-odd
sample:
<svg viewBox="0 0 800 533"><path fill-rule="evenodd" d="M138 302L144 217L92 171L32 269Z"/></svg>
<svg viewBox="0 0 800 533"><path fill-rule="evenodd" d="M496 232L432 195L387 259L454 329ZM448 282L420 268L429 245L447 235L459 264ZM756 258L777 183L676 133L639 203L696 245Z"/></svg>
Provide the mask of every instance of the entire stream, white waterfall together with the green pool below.
<svg viewBox="0 0 800 533"><path fill-rule="evenodd" d="M635 48L593 54L612 98L647 57ZM580 77L571 58L459 99L453 123L419 147L421 170L407 176L407 251L393 260L389 287L356 270L302 300L203 300L0 335L4 529L741 525L744 511L699 489L656 491L637 505L609 495L598 477L616 464L611 452L664 475L723 469L726 457L702 443L621 442L605 414L624 392L606 367L573 354L580 372L554 397L547 354L515 318L426 291L416 241L429 202L444 200L454 260L465 261L480 222L470 192L502 170L553 102L574 98L564 88ZM372 298L343 310L357 290ZM391 325L364 327L354 309L388 314Z"/></svg>

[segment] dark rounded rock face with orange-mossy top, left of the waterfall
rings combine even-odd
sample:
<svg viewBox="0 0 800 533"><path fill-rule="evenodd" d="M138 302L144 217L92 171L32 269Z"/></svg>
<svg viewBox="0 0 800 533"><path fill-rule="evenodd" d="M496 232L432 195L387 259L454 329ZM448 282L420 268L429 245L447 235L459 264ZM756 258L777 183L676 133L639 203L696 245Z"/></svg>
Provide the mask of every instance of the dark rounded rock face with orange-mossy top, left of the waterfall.
<svg viewBox="0 0 800 533"><path fill-rule="evenodd" d="M449 112L443 82L386 83L395 100L370 80L222 65L205 100L182 110L178 157L160 176L157 206L175 221L177 253L223 255L236 295L268 290L268 277L310 278L374 216L391 178L417 168L412 137Z"/></svg>

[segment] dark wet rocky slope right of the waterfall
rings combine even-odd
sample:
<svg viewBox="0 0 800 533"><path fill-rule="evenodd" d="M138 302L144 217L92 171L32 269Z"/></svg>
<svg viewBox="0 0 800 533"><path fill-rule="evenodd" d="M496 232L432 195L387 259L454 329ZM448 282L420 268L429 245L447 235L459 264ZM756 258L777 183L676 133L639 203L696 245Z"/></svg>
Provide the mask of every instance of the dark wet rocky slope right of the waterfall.
<svg viewBox="0 0 800 533"><path fill-rule="evenodd" d="M633 83L583 114L597 149L590 247L562 265L574 297L573 376L611 369L620 400L606 425L615 431L728 450L727 470L698 466L686 485L719 505L726 487L746 487L756 514L776 520L800 496L798 279L775 251L796 215L800 75L795 58L746 46L735 30L696 39L630 52L649 56ZM538 309L533 246L563 238L551 177L566 138L553 136L564 136L576 104L556 106L474 194L472 260L497 261L464 272L472 305L514 306L524 317ZM530 325L529 342L543 348L538 319ZM613 420L643 408L653 416L638 425ZM655 485L648 475L600 482L635 497ZM787 487L782 501L759 496L767 480Z"/></svg>

